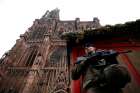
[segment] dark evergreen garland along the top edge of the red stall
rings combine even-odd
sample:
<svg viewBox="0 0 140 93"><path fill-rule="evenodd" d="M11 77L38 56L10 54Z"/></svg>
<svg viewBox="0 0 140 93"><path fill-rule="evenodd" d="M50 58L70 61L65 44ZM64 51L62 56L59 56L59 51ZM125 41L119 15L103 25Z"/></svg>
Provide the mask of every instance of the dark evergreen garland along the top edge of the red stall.
<svg viewBox="0 0 140 93"><path fill-rule="evenodd" d="M62 39L69 43L78 44L102 39L111 39L112 37L140 37L140 19L126 22L124 24L106 25L97 29L90 29L79 32L64 32Z"/></svg>

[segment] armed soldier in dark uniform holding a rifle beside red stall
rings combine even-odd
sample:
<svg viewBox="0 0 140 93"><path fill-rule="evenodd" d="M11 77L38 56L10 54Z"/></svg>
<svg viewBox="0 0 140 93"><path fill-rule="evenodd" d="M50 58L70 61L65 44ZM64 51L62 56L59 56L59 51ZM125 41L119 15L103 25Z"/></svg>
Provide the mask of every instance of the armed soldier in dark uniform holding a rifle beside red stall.
<svg viewBox="0 0 140 93"><path fill-rule="evenodd" d="M118 53L97 50L91 45L85 47L85 53L74 64L72 79L83 76L83 88L87 93L121 93L121 88L130 82L130 75L126 68L118 65L115 58Z"/></svg>

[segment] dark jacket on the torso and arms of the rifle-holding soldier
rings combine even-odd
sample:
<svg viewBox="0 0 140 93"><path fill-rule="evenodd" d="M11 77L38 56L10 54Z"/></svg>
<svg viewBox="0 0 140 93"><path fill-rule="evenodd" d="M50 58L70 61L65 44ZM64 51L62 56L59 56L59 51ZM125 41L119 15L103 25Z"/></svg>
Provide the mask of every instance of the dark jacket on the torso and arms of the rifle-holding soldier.
<svg viewBox="0 0 140 93"><path fill-rule="evenodd" d="M102 82L100 79L102 78L101 73L103 69L111 64L111 60L107 56L115 54L116 52L97 51L96 53L89 53L88 55L78 57L76 64L72 68L72 79L77 80L80 76L83 76L83 88L85 89L91 86L98 86ZM115 61L112 61L114 62L113 64L117 64L117 61Z"/></svg>

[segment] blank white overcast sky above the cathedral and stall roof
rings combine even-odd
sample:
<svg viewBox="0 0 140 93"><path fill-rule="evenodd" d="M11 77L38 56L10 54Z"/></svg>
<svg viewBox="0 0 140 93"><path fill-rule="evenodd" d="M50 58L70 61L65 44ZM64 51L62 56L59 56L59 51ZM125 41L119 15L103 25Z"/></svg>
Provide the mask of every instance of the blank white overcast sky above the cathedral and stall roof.
<svg viewBox="0 0 140 93"><path fill-rule="evenodd" d="M46 10L60 9L61 20L92 20L102 25L140 19L139 0L0 0L0 57Z"/></svg>

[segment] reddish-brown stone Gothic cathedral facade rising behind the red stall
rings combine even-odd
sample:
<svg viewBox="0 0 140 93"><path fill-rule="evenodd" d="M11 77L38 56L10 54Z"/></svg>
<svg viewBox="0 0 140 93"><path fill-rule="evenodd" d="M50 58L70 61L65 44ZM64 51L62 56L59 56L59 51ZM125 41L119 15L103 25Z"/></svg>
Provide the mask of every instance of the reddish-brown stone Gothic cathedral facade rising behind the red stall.
<svg viewBox="0 0 140 93"><path fill-rule="evenodd" d="M70 68L63 33L100 28L93 21L60 20L47 11L0 59L0 93L69 93Z"/></svg>

